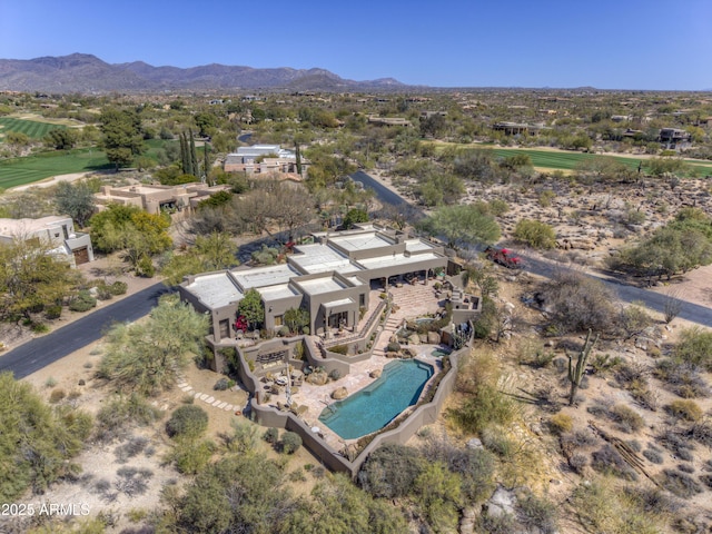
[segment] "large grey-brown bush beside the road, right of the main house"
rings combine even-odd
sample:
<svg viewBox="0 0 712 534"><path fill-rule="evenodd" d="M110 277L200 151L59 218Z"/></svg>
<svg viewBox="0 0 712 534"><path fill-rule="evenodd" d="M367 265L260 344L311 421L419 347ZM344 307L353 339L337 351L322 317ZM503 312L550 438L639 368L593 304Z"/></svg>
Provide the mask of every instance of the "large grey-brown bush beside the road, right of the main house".
<svg viewBox="0 0 712 534"><path fill-rule="evenodd" d="M603 283L581 273L565 269L554 274L538 295L551 312L551 326L558 334L615 328L613 294Z"/></svg>

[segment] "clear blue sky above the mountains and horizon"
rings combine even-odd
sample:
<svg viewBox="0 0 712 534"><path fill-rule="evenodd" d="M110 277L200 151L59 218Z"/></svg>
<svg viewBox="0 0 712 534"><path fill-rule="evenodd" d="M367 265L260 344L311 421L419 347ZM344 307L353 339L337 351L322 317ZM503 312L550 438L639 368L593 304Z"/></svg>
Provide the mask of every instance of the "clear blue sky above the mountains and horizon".
<svg viewBox="0 0 712 534"><path fill-rule="evenodd" d="M434 87L712 89L712 0L0 0L0 58L328 69Z"/></svg>

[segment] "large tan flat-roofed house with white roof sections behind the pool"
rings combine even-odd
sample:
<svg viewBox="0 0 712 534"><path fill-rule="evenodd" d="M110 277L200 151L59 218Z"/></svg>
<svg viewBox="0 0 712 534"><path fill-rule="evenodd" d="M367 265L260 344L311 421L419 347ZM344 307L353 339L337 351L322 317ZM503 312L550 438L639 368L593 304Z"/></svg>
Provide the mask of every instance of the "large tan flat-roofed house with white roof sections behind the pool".
<svg viewBox="0 0 712 534"><path fill-rule="evenodd" d="M266 329L279 328L286 310L301 307L309 313L310 332L328 336L333 328L358 324L362 308L369 307L372 284L387 287L448 264L443 246L372 224L313 237L315 243L296 246L286 264L186 277L178 290L210 315L214 348L236 343L237 309L249 289L261 296Z"/></svg>

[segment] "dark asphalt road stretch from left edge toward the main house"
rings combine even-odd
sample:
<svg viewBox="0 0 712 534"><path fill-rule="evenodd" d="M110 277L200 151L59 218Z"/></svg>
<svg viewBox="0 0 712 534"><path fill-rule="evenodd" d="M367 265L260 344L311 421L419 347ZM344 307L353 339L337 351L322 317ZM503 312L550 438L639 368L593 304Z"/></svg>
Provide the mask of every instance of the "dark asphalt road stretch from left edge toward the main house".
<svg viewBox="0 0 712 534"><path fill-rule="evenodd" d="M158 297L167 291L168 288L162 283L154 284L115 304L105 305L46 336L20 345L0 356L0 373L10 370L16 378L31 375L96 342L113 323L130 323L144 317L158 304Z"/></svg>

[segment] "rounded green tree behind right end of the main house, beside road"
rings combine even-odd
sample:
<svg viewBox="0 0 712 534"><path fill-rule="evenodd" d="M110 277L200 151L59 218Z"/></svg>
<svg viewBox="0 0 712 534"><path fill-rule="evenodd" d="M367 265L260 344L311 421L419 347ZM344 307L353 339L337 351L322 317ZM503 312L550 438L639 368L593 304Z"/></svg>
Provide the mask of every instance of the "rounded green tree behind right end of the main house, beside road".
<svg viewBox="0 0 712 534"><path fill-rule="evenodd" d="M445 238L448 247L493 244L500 239L500 225L477 205L441 206L422 226L431 236Z"/></svg>

